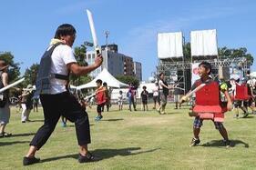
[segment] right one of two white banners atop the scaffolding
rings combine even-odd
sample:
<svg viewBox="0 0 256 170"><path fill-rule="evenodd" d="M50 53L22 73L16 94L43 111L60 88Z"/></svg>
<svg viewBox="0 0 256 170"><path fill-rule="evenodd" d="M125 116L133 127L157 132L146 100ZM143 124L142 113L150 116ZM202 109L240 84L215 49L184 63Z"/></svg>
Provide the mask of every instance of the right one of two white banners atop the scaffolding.
<svg viewBox="0 0 256 170"><path fill-rule="evenodd" d="M216 29L190 32L191 55L218 55Z"/></svg>

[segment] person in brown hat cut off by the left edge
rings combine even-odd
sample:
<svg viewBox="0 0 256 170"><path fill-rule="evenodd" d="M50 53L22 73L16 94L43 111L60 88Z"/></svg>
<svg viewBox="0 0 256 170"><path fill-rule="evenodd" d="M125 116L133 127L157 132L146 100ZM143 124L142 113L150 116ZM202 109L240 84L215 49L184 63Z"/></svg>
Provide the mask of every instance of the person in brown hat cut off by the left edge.
<svg viewBox="0 0 256 170"><path fill-rule="evenodd" d="M8 74L7 74L8 65L4 60L0 60L0 88L8 85ZM8 90L5 90L2 94L2 99L5 98L5 103L0 107L0 137L8 137L12 134L5 132L5 127L9 123L10 120L10 107L8 102Z"/></svg>

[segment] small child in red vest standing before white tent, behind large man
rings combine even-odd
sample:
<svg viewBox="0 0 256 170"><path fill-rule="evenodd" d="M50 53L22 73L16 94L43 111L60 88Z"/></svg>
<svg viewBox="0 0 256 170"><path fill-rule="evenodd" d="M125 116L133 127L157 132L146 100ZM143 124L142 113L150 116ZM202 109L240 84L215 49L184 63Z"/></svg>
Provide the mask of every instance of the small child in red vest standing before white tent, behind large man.
<svg viewBox="0 0 256 170"><path fill-rule="evenodd" d="M97 116L95 117L96 121L99 121L102 119L102 108L106 103L106 93L105 88L102 86L102 80L97 79L97 90L96 90L96 102L97 102Z"/></svg>

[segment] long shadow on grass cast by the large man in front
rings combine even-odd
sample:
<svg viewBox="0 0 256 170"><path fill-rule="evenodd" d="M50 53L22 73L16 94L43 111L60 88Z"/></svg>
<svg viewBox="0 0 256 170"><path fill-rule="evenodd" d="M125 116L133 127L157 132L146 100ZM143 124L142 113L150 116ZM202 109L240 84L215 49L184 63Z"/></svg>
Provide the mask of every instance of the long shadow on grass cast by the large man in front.
<svg viewBox="0 0 256 170"><path fill-rule="evenodd" d="M110 157L114 157L117 155L127 156L127 155L138 155L143 153L154 152L156 150L159 150L160 148L155 148L155 149L150 149L145 151L139 151L140 149L141 149L140 147L128 147L123 149L96 149L92 151L92 155L95 155L97 157L97 161L100 161L100 160L108 159ZM56 161L58 159L65 159L65 158L77 159L78 154L50 157L50 158L43 159L41 163ZM94 162L97 162L97 161L94 161Z"/></svg>

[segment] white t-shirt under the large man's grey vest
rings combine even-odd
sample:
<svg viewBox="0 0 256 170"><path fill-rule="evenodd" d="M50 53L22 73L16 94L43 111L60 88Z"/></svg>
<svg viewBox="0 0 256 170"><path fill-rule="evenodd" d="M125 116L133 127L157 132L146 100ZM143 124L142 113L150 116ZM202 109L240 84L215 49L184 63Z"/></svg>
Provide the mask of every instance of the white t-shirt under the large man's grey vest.
<svg viewBox="0 0 256 170"><path fill-rule="evenodd" d="M77 63L73 50L68 45L57 45L52 54L51 74L68 75L67 64ZM51 83L51 94L59 94L67 91L67 80L53 78Z"/></svg>

